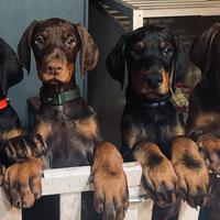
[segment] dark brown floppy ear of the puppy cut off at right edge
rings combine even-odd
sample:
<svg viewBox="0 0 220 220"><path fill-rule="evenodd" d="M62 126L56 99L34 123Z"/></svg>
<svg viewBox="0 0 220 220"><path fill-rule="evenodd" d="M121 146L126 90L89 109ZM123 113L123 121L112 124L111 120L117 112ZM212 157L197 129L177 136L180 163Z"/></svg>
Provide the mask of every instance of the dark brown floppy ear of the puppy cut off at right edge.
<svg viewBox="0 0 220 220"><path fill-rule="evenodd" d="M209 29L206 29L200 35L198 35L191 45L190 59L201 69L202 76L210 66L210 51L216 34L220 31L220 23L215 23Z"/></svg>

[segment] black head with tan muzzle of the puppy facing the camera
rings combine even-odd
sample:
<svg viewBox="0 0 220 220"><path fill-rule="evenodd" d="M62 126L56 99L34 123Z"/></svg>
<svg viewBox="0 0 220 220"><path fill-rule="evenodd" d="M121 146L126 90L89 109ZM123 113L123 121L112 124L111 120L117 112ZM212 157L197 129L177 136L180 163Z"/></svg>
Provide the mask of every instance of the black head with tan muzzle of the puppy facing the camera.
<svg viewBox="0 0 220 220"><path fill-rule="evenodd" d="M188 53L170 31L160 26L143 26L121 36L107 57L107 70L124 84L125 64L129 85L138 95L160 98L185 79Z"/></svg>

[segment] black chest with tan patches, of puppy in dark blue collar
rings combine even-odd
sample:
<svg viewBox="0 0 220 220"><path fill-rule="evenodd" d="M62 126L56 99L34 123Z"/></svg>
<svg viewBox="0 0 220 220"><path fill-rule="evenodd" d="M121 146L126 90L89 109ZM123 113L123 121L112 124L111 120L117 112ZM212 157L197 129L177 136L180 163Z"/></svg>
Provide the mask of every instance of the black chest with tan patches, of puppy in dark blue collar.
<svg viewBox="0 0 220 220"><path fill-rule="evenodd" d="M122 135L125 147L132 148L138 142L147 140L156 143L167 154L174 138L183 134L185 134L183 122L173 106L124 110Z"/></svg>

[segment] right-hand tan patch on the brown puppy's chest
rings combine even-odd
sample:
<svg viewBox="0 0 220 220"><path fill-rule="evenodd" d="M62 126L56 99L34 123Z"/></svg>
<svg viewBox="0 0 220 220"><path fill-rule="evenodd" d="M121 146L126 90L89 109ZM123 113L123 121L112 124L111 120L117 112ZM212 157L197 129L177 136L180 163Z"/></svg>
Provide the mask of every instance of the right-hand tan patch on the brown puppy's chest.
<svg viewBox="0 0 220 220"><path fill-rule="evenodd" d="M94 118L76 121L76 129L79 133L88 139L97 135L98 124Z"/></svg>

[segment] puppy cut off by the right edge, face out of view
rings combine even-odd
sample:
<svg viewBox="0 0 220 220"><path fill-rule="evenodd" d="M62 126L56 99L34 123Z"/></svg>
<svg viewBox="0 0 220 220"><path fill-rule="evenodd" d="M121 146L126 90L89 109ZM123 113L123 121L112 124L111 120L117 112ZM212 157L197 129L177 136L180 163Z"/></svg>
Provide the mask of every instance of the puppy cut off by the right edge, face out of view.
<svg viewBox="0 0 220 220"><path fill-rule="evenodd" d="M189 98L187 132L197 141L211 174L211 195L205 219L220 219L220 23L199 34L191 46L191 61L201 70L201 80Z"/></svg>

